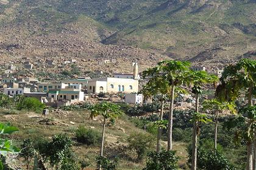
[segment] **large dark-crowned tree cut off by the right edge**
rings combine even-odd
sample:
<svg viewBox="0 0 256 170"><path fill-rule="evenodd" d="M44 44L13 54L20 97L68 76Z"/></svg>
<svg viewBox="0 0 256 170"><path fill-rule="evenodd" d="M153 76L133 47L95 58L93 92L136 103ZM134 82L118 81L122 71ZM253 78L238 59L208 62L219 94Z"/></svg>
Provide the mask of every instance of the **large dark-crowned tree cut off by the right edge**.
<svg viewBox="0 0 256 170"><path fill-rule="evenodd" d="M256 60L242 59L235 65L225 67L221 77L221 84L216 89L220 101L235 101L241 95L241 90L247 91L248 106L252 106L252 96L256 91ZM256 129L254 129L256 135ZM247 170L256 168L256 140L251 142L254 157L247 157ZM247 155L250 155L249 153Z"/></svg>

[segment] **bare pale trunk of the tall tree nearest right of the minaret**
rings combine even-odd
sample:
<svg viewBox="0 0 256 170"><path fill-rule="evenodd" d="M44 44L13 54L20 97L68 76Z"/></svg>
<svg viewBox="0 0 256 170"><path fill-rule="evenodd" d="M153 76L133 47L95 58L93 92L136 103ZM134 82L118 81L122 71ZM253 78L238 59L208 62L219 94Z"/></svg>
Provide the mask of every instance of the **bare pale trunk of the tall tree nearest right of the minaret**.
<svg viewBox="0 0 256 170"><path fill-rule="evenodd" d="M175 86L171 86L171 104L168 115L168 143L167 143L167 151L172 150L172 117L173 117L173 103L174 103L174 89Z"/></svg>

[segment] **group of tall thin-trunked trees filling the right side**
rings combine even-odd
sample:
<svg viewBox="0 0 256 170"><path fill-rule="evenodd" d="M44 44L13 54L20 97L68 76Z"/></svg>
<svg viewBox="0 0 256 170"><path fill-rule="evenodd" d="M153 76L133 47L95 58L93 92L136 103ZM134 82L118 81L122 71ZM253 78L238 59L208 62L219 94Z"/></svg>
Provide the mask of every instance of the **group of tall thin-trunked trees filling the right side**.
<svg viewBox="0 0 256 170"><path fill-rule="evenodd" d="M174 110L174 94L176 87L191 89L191 93L196 98L195 110L191 121L193 122L193 142L191 152L191 169L197 169L197 140L202 124L212 121L207 115L202 114L204 110L215 113L215 149L218 134L218 117L222 110L226 109L236 112L233 102L239 97L247 97L247 107L243 107L238 112L238 117L229 121L227 127L239 127L239 124L246 124L238 128L236 139L243 139L247 142L247 163L246 169L255 169L256 159L256 132L255 132L255 106L252 106L252 97L256 93L256 61L243 59L235 65L225 67L220 80L204 71L193 71L187 61L162 61L156 67L143 72L143 77L148 78L148 83L143 87L145 97L162 95L160 103L162 105L159 120L154 124L158 126L157 152L160 152L160 140L162 129L167 126L168 149L172 151L172 126ZM207 84L216 87L216 98L212 101L204 102L204 109L200 107L199 97L202 89ZM218 85L218 86L216 86ZM168 122L163 121L163 105L166 97L170 101Z"/></svg>

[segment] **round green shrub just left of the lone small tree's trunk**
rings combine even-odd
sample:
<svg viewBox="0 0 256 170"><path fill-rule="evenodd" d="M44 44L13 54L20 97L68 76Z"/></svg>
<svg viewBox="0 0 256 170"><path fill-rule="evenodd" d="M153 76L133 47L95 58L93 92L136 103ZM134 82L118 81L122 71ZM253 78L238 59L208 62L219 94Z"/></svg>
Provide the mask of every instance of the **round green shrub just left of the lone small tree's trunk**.
<svg viewBox="0 0 256 170"><path fill-rule="evenodd" d="M79 126L76 130L76 140L87 145L98 145L101 142L101 134L93 129Z"/></svg>

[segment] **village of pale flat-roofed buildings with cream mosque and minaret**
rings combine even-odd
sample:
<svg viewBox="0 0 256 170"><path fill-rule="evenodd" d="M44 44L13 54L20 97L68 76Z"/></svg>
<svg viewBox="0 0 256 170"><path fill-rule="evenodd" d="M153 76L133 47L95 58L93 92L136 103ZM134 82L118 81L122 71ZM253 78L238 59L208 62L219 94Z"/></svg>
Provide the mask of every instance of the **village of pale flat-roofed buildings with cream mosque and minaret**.
<svg viewBox="0 0 256 170"><path fill-rule="evenodd" d="M115 59L98 60L98 65L108 67L108 64L116 62ZM41 67L46 70L51 69L58 65L57 61L44 60L43 64L35 64L37 62L32 63L30 58L22 58L18 63L20 64L8 63L7 67L2 67L3 73L0 75L0 92L10 97L15 95L34 97L47 106L60 107L88 101L90 97L93 97L92 94L111 94L114 97L116 97L115 94L124 94L123 100L119 99L119 101L129 104L143 103L143 95L139 92L145 81L141 78L141 72L138 71L139 64L136 60L127 64L130 66L130 73L112 72L104 77L101 70L94 71L98 75L96 78L76 76L63 80L43 80L35 75L17 75L20 67L23 67L23 72L28 70L33 73L32 69L40 70ZM65 67L76 63L74 59L62 61ZM207 71L204 66L193 66L191 69ZM222 72L222 69L214 70L218 77L221 77Z"/></svg>

